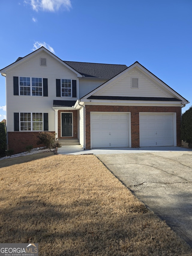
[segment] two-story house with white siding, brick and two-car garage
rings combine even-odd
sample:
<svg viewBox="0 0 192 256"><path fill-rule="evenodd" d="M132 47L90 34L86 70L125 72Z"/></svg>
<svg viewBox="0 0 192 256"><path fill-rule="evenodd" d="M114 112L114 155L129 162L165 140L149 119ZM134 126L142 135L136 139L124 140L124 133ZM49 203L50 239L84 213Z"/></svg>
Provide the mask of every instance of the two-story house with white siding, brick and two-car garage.
<svg viewBox="0 0 192 256"><path fill-rule="evenodd" d="M37 147L40 131L85 148L180 146L189 103L140 63L62 61L44 47L1 69L6 77L7 144Z"/></svg>

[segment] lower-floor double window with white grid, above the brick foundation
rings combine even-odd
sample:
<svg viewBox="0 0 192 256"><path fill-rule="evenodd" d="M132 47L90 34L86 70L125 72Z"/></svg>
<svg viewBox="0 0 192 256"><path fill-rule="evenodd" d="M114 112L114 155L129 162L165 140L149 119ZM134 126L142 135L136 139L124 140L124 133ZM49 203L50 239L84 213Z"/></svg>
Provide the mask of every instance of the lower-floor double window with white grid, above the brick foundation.
<svg viewBox="0 0 192 256"><path fill-rule="evenodd" d="M43 113L20 113L20 131L43 131Z"/></svg>

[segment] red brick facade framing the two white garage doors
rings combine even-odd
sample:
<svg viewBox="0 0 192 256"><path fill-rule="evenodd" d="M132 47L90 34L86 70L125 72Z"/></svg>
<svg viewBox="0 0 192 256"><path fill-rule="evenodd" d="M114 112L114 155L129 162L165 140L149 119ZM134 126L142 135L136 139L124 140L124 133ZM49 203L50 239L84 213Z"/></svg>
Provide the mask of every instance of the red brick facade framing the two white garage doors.
<svg viewBox="0 0 192 256"><path fill-rule="evenodd" d="M91 123L90 112L131 112L131 147L137 148L140 146L139 134L139 113L176 113L176 129L177 129L177 146L181 146L181 108L180 107L151 107L151 106L85 106L86 120L86 149L91 148Z"/></svg>

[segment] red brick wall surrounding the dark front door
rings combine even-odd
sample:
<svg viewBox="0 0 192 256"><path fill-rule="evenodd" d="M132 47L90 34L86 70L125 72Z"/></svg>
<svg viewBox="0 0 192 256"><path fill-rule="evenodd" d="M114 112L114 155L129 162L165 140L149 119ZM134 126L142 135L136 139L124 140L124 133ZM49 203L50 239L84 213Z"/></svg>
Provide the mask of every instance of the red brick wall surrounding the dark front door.
<svg viewBox="0 0 192 256"><path fill-rule="evenodd" d="M73 137L61 137L61 113L73 113ZM77 110L58 110L58 139L77 139Z"/></svg>

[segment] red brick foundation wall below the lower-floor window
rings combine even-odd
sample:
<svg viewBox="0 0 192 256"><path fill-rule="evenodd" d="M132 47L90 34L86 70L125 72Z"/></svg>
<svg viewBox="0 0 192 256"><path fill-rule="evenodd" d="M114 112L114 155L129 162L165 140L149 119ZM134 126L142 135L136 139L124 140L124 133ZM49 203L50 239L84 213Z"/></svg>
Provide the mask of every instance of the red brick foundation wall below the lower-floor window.
<svg viewBox="0 0 192 256"><path fill-rule="evenodd" d="M52 131L52 133L55 133L55 131ZM43 147L43 144L37 145L38 142L38 131L13 131L8 132L8 149L13 149L14 154L25 152L26 146L33 145L33 148L37 147Z"/></svg>

